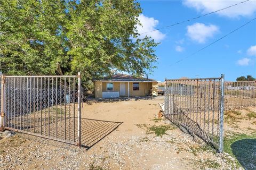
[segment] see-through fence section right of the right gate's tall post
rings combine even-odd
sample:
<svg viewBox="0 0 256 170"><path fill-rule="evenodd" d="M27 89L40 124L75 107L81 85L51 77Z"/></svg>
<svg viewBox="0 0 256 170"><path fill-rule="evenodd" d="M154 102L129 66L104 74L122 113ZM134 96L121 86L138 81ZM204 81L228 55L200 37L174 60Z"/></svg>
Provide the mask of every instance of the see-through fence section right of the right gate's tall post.
<svg viewBox="0 0 256 170"><path fill-rule="evenodd" d="M256 81L226 81L225 109L256 106Z"/></svg>

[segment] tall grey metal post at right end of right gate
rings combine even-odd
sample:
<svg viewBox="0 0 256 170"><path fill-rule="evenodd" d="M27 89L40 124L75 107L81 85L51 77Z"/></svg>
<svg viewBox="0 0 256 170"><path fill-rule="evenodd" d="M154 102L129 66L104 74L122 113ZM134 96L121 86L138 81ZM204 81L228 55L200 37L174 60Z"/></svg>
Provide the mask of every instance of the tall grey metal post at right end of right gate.
<svg viewBox="0 0 256 170"><path fill-rule="evenodd" d="M225 89L225 79L224 74L221 74L221 95L220 95L220 146L219 152L223 151L223 117L224 117L224 89Z"/></svg>

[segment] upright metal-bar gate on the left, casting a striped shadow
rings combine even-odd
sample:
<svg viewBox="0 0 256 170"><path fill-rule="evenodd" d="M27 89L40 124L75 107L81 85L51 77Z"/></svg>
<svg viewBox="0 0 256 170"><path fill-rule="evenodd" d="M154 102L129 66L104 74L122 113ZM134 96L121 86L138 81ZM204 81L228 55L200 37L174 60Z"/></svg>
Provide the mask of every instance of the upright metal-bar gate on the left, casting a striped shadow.
<svg viewBox="0 0 256 170"><path fill-rule="evenodd" d="M81 145L81 77L2 75L2 130Z"/></svg>

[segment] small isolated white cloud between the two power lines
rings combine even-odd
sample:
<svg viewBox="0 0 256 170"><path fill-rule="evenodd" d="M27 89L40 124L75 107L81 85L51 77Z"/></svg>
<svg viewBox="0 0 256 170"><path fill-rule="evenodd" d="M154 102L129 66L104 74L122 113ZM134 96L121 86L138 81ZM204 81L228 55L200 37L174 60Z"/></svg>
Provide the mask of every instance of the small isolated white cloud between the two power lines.
<svg viewBox="0 0 256 170"><path fill-rule="evenodd" d="M213 37L218 31L219 28L213 24L194 23L187 26L187 36L198 43L205 43L207 38Z"/></svg>

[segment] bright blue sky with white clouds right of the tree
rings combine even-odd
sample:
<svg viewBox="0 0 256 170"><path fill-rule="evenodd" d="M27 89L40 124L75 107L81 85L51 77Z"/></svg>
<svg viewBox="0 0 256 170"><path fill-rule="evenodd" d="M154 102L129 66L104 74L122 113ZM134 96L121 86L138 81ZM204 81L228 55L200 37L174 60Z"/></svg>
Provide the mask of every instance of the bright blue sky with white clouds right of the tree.
<svg viewBox="0 0 256 170"><path fill-rule="evenodd" d="M241 1L139 1L143 9L140 33L194 18ZM230 31L256 18L256 1L249 1L203 18L149 32L161 43L158 62L150 78L220 77L235 81L241 75L256 77L256 20L212 46L174 64ZM172 65L174 64L174 65Z"/></svg>

